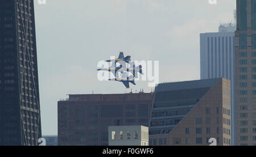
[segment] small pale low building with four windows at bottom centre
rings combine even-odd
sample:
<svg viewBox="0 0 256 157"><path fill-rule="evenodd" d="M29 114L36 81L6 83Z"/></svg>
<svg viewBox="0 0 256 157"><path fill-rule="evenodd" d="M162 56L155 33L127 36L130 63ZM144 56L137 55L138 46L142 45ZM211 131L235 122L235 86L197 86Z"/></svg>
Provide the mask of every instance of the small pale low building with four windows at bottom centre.
<svg viewBox="0 0 256 157"><path fill-rule="evenodd" d="M148 146L148 127L109 126L109 146Z"/></svg>

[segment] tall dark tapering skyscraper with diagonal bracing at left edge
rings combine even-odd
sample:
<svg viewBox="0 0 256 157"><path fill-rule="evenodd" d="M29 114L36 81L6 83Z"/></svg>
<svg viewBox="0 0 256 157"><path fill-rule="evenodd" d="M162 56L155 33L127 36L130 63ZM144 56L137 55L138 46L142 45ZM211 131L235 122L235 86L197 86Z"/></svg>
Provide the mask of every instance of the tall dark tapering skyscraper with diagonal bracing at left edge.
<svg viewBox="0 0 256 157"><path fill-rule="evenodd" d="M34 1L0 0L0 145L41 137Z"/></svg>

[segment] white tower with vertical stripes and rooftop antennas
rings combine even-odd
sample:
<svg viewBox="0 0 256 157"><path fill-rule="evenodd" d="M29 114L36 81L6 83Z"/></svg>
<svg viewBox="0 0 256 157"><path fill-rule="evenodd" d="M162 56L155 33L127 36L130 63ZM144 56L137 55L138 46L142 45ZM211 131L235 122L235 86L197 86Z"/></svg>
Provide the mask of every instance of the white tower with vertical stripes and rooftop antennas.
<svg viewBox="0 0 256 157"><path fill-rule="evenodd" d="M232 23L220 24L218 32L200 34L200 73L201 79L226 78L231 81L232 144L236 142L236 91L235 91L235 53Z"/></svg>

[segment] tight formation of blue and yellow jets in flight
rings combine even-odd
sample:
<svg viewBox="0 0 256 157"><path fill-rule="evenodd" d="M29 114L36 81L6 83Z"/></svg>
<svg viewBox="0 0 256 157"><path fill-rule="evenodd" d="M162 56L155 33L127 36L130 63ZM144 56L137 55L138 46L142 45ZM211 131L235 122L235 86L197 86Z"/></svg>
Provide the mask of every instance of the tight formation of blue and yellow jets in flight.
<svg viewBox="0 0 256 157"><path fill-rule="evenodd" d="M97 69L98 71L110 71L115 78L109 79L112 81L122 82L126 88L130 88L129 83L136 85L135 79L138 78L138 73L143 75L142 66L135 66L135 62L131 61L131 56L124 56L123 52L119 52L119 57L114 60L106 60L111 62L112 65L109 68ZM119 64L117 66L117 63ZM119 74L122 77L119 77ZM131 74L131 75L129 75Z"/></svg>

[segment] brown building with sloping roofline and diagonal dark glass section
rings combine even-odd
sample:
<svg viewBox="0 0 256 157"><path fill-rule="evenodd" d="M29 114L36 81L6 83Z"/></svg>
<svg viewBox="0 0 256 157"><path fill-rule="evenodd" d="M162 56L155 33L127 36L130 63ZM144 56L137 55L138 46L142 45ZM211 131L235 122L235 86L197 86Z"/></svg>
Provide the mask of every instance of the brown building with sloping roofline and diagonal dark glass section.
<svg viewBox="0 0 256 157"><path fill-rule="evenodd" d="M151 146L232 145L230 81L224 78L156 86L150 118Z"/></svg>

